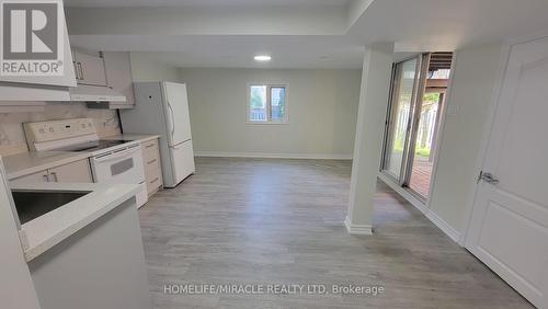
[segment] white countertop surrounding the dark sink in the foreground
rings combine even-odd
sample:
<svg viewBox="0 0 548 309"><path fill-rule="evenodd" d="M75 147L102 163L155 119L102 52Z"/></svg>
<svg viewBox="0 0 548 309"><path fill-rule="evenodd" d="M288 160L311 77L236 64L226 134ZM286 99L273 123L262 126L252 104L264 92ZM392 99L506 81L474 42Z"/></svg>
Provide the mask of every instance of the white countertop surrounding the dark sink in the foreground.
<svg viewBox="0 0 548 309"><path fill-rule="evenodd" d="M90 192L21 226L20 238L28 262L118 207L141 187L138 184L35 183L12 185L12 190Z"/></svg>

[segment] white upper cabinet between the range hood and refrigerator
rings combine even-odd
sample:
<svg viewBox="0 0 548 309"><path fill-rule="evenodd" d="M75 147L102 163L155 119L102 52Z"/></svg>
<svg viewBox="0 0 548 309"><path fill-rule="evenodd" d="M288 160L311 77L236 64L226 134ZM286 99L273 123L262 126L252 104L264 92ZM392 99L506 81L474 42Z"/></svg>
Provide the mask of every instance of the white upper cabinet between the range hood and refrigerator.
<svg viewBox="0 0 548 309"><path fill-rule="evenodd" d="M126 96L126 102L116 103L117 108L132 108L135 106L134 81L132 64L127 52L104 52L103 59L106 70L109 87Z"/></svg>

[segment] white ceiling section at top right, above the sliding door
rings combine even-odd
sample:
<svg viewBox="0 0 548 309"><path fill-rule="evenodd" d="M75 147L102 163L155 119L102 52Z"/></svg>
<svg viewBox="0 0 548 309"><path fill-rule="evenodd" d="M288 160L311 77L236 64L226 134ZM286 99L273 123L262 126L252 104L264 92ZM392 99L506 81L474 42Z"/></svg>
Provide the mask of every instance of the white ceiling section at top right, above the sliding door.
<svg viewBox="0 0 548 309"><path fill-rule="evenodd" d="M449 52L548 31L547 0L375 0L346 35L398 50Z"/></svg>

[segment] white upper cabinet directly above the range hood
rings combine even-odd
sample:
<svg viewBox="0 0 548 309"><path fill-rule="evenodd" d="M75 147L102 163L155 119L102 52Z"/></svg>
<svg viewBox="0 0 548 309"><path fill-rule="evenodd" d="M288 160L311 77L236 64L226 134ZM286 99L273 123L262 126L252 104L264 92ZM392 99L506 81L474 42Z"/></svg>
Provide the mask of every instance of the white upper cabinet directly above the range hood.
<svg viewBox="0 0 548 309"><path fill-rule="evenodd" d="M99 52L73 49L72 57L79 84L106 85L104 61Z"/></svg>

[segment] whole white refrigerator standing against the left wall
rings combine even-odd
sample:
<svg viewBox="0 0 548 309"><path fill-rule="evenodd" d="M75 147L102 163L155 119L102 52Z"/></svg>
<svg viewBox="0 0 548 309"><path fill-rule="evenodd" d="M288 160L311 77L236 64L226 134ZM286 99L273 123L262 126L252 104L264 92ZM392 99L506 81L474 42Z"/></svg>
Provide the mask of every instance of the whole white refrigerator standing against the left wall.
<svg viewBox="0 0 548 309"><path fill-rule="evenodd" d="M136 82L134 90L135 108L119 114L122 129L160 136L163 183L174 187L195 172L186 84Z"/></svg>

